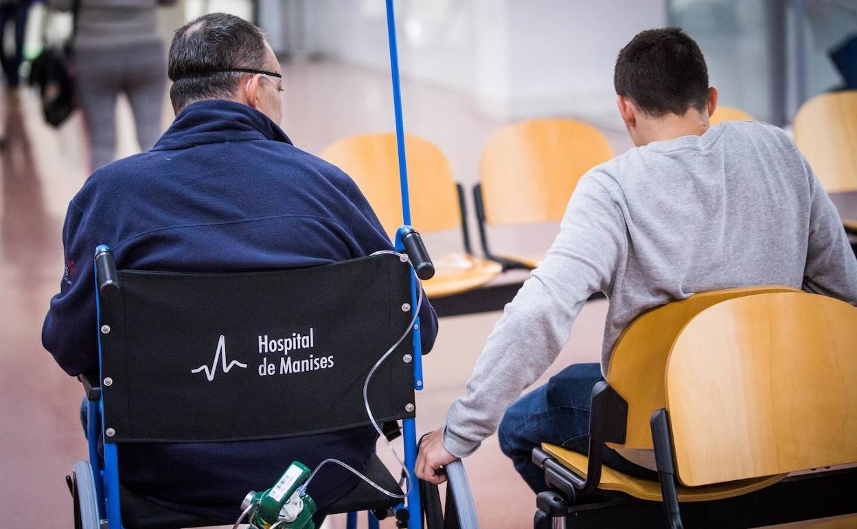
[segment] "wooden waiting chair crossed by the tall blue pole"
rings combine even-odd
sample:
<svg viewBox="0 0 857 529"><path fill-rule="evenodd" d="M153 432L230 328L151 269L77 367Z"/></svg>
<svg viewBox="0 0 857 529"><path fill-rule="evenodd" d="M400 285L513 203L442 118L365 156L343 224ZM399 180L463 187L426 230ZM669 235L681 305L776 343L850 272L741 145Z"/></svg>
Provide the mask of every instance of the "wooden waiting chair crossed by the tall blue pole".
<svg viewBox="0 0 857 529"><path fill-rule="evenodd" d="M464 239L463 253L434 257L434 278L423 283L428 298L466 292L494 280L502 266L472 255L464 189L452 180L446 157L433 143L416 135L405 135L405 154L414 227L423 234L460 229ZM396 135L351 136L325 148L321 158L357 182L387 234L394 237L402 224Z"/></svg>

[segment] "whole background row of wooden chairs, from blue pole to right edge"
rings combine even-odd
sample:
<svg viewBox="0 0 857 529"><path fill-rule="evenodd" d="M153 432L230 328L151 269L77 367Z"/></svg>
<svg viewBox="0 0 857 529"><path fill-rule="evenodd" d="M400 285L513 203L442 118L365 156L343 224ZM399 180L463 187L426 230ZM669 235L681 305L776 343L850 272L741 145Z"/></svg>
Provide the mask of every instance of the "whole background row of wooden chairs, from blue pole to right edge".
<svg viewBox="0 0 857 529"><path fill-rule="evenodd" d="M795 140L829 192L857 189L857 152L846 148L848 138L857 137L855 116L857 91L818 96L795 117ZM711 123L752 119L722 106ZM498 130L482 152L479 183L472 189L482 247L478 256L468 230L465 190L453 179L446 156L417 135L406 135L405 152L417 229L461 230L463 238L463 252L434 259L437 273L425 284L429 298L476 289L508 269L536 268L542 256L495 252L488 228L559 222L579 178L614 155L598 129L571 119L532 119ZM347 137L325 148L321 158L354 178L392 237L402 219L396 136Z"/></svg>

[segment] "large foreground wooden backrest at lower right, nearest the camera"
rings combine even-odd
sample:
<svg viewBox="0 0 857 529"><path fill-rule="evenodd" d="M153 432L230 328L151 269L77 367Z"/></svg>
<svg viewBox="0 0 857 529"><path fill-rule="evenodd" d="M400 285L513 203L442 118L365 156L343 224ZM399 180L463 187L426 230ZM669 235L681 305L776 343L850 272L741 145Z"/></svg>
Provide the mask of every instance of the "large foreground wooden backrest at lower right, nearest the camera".
<svg viewBox="0 0 857 529"><path fill-rule="evenodd" d="M693 317L667 366L688 486L857 462L857 307L806 292L735 298Z"/></svg>

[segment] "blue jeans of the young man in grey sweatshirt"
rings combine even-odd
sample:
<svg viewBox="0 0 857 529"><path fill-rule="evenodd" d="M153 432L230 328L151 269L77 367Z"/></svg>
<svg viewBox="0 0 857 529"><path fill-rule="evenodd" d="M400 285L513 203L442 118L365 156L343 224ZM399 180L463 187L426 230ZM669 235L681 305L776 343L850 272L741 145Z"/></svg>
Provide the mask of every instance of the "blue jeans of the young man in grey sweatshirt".
<svg viewBox="0 0 857 529"><path fill-rule="evenodd" d="M548 490L544 471L532 462L532 450L549 442L580 454L589 452L590 396L602 381L599 364L574 364L551 377L547 384L525 394L506 410L500 423L500 449L537 493ZM614 449L604 447L604 464L638 478L657 479L657 473L633 464Z"/></svg>

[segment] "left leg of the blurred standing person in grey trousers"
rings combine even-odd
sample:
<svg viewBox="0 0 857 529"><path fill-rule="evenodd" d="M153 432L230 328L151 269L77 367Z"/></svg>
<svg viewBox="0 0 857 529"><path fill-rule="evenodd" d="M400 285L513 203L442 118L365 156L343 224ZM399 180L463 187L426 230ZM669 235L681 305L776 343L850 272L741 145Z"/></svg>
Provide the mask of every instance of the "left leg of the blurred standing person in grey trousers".
<svg viewBox="0 0 857 529"><path fill-rule="evenodd" d="M90 169L113 161L116 153L116 99L121 57L111 51L75 52L75 89L89 135Z"/></svg>

